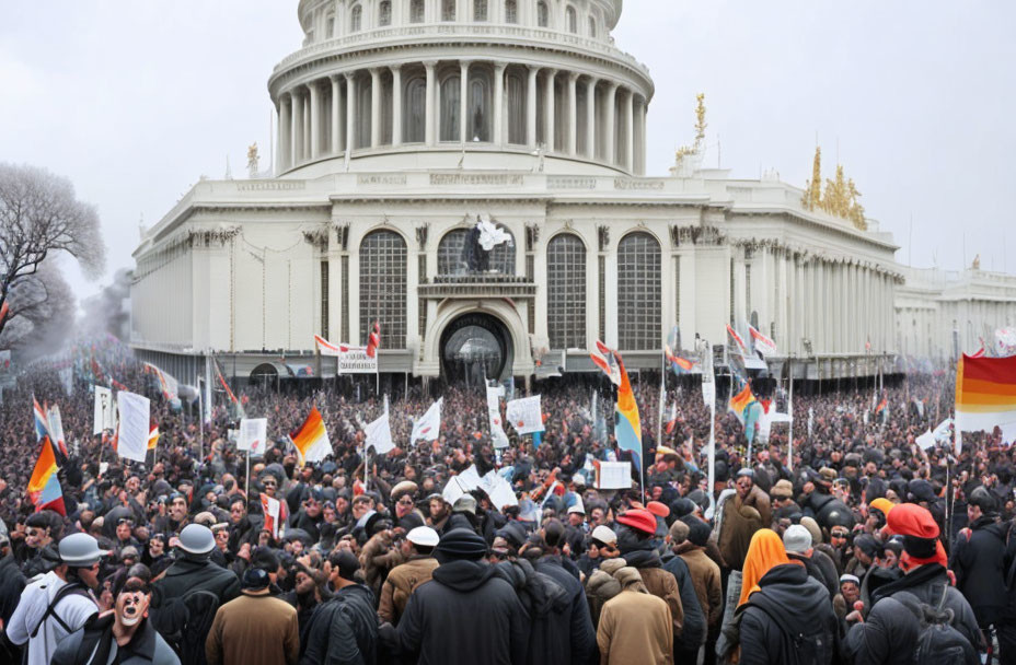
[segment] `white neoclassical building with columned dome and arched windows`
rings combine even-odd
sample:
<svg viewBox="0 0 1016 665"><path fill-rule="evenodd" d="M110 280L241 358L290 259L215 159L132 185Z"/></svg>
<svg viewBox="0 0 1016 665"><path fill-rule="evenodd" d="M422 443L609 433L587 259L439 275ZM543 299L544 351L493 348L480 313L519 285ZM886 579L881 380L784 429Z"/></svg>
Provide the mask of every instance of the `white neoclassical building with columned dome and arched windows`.
<svg viewBox="0 0 1016 665"><path fill-rule="evenodd" d="M597 338L658 368L673 325L691 348L750 322L777 371L874 373L902 339L892 237L695 155L646 175L654 83L614 45L621 10L301 0L302 48L268 79L275 164L201 180L145 231L135 349L184 381L209 353L243 377L379 320L381 372L528 377L546 351L590 370ZM511 242L477 248L478 219Z"/></svg>

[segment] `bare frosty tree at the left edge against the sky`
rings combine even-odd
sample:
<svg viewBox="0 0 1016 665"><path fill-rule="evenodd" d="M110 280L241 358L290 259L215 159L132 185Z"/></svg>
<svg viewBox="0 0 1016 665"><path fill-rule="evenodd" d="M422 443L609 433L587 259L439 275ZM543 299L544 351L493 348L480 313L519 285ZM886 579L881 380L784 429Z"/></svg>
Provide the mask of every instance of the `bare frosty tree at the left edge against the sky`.
<svg viewBox="0 0 1016 665"><path fill-rule="evenodd" d="M19 317L25 319L19 328L30 324L31 330L41 323L38 316L56 312L45 305L56 292L55 279L69 296L56 268L39 277L43 261L51 262L59 254L74 257L89 277L102 275L105 245L95 207L79 201L67 178L35 166L0 163L0 310L9 306L0 319L0 348L5 348L4 339L13 343L14 336L3 331Z"/></svg>

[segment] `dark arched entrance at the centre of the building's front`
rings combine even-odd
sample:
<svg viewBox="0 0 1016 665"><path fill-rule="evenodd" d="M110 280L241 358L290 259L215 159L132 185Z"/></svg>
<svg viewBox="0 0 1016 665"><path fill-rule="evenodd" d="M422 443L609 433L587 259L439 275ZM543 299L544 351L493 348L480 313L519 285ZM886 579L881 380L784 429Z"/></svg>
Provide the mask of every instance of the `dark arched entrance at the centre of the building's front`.
<svg viewBox="0 0 1016 665"><path fill-rule="evenodd" d="M504 378L511 361L511 334L495 316L464 314L441 332L441 376L451 384L476 387L484 378Z"/></svg>

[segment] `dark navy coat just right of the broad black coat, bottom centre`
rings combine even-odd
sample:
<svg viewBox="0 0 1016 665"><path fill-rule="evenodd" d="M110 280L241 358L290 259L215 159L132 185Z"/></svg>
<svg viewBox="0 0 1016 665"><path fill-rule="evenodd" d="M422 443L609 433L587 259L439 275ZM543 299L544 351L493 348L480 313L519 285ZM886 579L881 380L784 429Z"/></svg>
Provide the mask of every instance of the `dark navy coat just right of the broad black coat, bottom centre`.
<svg viewBox="0 0 1016 665"><path fill-rule="evenodd" d="M540 559L534 568L565 588L569 607L556 620L533 626L530 640L535 643L530 643L529 653L536 657L530 663L586 665L598 662L597 631L581 582L564 569L562 558L556 555Z"/></svg>

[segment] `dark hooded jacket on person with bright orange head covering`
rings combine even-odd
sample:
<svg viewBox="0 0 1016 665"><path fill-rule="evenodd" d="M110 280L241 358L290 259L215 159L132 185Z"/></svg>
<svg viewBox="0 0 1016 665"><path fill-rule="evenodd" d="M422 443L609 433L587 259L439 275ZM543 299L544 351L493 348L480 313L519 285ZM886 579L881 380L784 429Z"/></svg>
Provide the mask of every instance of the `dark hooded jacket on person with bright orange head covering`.
<svg viewBox="0 0 1016 665"><path fill-rule="evenodd" d="M797 563L772 568L759 581L761 591L738 610L741 665L800 663L792 635L812 634L821 629L828 660L808 665L839 662L840 630L829 602L829 592Z"/></svg>

